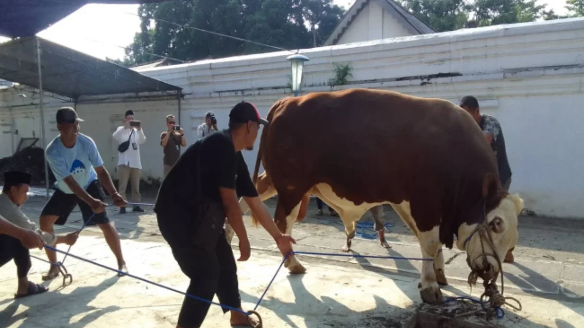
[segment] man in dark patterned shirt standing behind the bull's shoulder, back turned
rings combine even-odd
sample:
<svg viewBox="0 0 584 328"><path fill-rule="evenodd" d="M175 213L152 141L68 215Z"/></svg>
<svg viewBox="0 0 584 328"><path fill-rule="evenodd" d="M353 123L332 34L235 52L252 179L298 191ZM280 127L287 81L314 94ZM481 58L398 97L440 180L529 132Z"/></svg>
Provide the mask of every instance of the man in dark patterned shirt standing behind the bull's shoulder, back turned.
<svg viewBox="0 0 584 328"><path fill-rule="evenodd" d="M460 100L460 107L463 107L472 118L477 121L479 127L485 134L485 139L491 145L493 152L497 158L497 166L499 169L499 177L503 189L509 191L511 185L511 168L507 160L507 152L505 149L505 137L503 137L503 130L499 121L490 115L481 114L478 106L478 100L473 96L465 96ZM505 256L506 263L513 263L513 249L510 249Z"/></svg>

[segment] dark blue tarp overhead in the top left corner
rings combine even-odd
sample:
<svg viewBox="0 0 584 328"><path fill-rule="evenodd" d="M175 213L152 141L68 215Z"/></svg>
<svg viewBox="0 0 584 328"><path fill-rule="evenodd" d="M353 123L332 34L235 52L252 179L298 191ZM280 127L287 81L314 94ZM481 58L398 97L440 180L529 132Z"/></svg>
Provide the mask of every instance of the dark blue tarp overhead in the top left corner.
<svg viewBox="0 0 584 328"><path fill-rule="evenodd" d="M168 0L0 0L0 36L33 36L86 4L145 4Z"/></svg>

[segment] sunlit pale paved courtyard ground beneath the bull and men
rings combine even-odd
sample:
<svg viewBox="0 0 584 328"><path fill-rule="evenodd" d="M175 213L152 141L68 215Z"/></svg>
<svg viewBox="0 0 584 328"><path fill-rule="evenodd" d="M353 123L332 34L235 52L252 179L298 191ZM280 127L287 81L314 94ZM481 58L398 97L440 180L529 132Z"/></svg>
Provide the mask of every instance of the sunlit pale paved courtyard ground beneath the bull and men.
<svg viewBox="0 0 584 328"><path fill-rule="evenodd" d="M25 212L35 221L45 198L31 197ZM152 197L145 197L152 203ZM315 216L312 201L307 218L297 224L293 236L296 250L340 253L345 235L339 218ZM267 201L273 211L275 202ZM169 287L185 290L188 281L159 235L151 208L142 215L117 214L108 210L119 230L130 273ZM326 213L326 208L325 208ZM354 254L420 257L418 243L401 219L386 208L387 222L395 224L386 233L393 246L384 249L376 240L355 238ZM261 228L253 228L246 217L252 257L238 263L240 289L245 309L255 306L276 272L281 257L273 240ZM361 222L371 221L369 212ZM76 210L58 232L82 225ZM506 309L505 318L491 320L504 327L584 327L584 221L539 217L520 218L520 240L516 263L505 264L505 294L513 295L523 310ZM373 234L372 231L366 233ZM237 250L237 237L232 246ZM60 247L66 250L66 247ZM99 229L81 233L71 252L114 266ZM450 286L445 296L469 295L465 256L456 249L444 250ZM39 250L32 252L43 257ZM62 258L62 255L60 259ZM421 263L417 261L361 259L331 256L302 256L304 275L289 275L282 268L258 310L264 327L400 327L409 316L429 308L422 305L416 285ZM33 259L30 278L40 282L48 264ZM13 301L15 267L0 268L0 326L2 327L174 327L182 295L148 285L131 277L117 278L111 271L69 257L66 266L74 282L58 290L61 280L50 282L51 291ZM57 289L57 291L55 291ZM481 287L472 288L472 296ZM215 301L217 301L215 299ZM457 305L453 305L457 306ZM475 317L471 320L482 320ZM6 324L7 323L7 324ZM227 327L228 317L211 306L204 327Z"/></svg>

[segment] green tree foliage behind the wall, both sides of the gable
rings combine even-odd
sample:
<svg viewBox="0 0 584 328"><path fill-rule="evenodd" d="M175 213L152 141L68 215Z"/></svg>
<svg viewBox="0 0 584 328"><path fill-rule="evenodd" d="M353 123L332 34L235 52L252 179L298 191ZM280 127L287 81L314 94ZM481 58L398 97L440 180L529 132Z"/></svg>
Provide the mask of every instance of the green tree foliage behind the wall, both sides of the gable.
<svg viewBox="0 0 584 328"><path fill-rule="evenodd" d="M584 16L584 0L567 0L566 16L546 10L537 0L397 1L436 32ZM140 64L160 56L193 61L277 50L262 44L286 49L322 46L344 10L332 0L175 0L140 5L138 14L141 32L126 47L126 57L112 61L116 64Z"/></svg>

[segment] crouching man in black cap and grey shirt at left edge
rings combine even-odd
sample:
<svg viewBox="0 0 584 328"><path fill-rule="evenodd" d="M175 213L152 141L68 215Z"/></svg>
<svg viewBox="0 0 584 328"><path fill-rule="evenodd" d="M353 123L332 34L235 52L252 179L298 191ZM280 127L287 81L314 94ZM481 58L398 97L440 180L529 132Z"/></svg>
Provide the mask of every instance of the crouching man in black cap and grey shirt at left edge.
<svg viewBox="0 0 584 328"><path fill-rule="evenodd" d="M12 224L23 229L36 231L48 246L56 244L73 245L77 242L78 233L71 232L67 236L55 236L53 233L41 232L36 229L34 222L20 211L20 207L28 199L29 185L32 176L25 172L5 172L4 188L0 194L0 216ZM20 240L8 235L0 235L0 267L13 259L18 273L18 289L15 298L21 298L48 291L47 287L29 281L28 274L31 267L30 253Z"/></svg>

